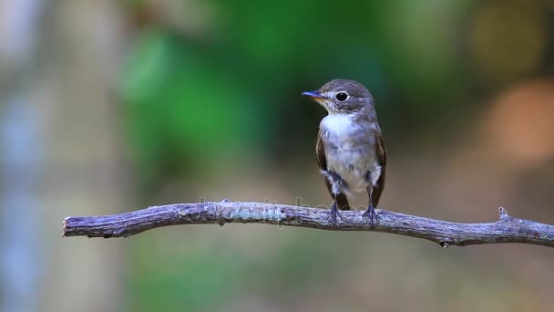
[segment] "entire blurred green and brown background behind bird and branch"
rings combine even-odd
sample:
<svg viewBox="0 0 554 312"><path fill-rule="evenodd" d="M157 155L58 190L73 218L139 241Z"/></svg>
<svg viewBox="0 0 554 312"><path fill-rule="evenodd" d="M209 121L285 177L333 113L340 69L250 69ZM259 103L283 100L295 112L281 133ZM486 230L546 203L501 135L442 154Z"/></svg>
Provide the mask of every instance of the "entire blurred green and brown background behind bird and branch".
<svg viewBox="0 0 554 312"><path fill-rule="evenodd" d="M0 0L0 310L554 310L546 247L61 238L67 215L200 198L328 206L325 112L300 94L332 78L374 94L382 208L554 224L553 20L552 0Z"/></svg>

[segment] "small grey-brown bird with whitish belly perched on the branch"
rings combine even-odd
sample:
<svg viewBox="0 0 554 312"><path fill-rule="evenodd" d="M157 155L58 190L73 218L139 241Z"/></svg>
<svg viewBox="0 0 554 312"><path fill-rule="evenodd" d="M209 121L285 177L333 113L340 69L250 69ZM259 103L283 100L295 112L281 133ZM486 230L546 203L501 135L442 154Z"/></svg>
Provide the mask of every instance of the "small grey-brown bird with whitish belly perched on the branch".
<svg viewBox="0 0 554 312"><path fill-rule="evenodd" d="M373 226L374 207L385 186L386 152L371 93L358 82L335 79L303 95L329 113L319 125L315 151L333 197L333 224L337 214L340 216L338 209L350 209L346 195L367 192L364 218Z"/></svg>

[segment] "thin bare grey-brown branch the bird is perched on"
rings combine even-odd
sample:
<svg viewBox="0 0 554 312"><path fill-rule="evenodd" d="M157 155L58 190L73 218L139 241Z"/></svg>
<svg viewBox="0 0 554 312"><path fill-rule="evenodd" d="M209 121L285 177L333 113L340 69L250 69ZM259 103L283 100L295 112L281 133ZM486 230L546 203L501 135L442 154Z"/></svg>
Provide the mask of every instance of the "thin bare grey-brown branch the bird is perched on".
<svg viewBox="0 0 554 312"><path fill-rule="evenodd" d="M273 203L203 202L153 206L132 213L67 217L64 236L126 237L176 224L278 224L333 231L374 231L424 238L443 247L525 243L554 247L554 226L514 218L500 208L500 219L460 224L377 209L372 228L361 211L344 211L332 224L328 209Z"/></svg>

